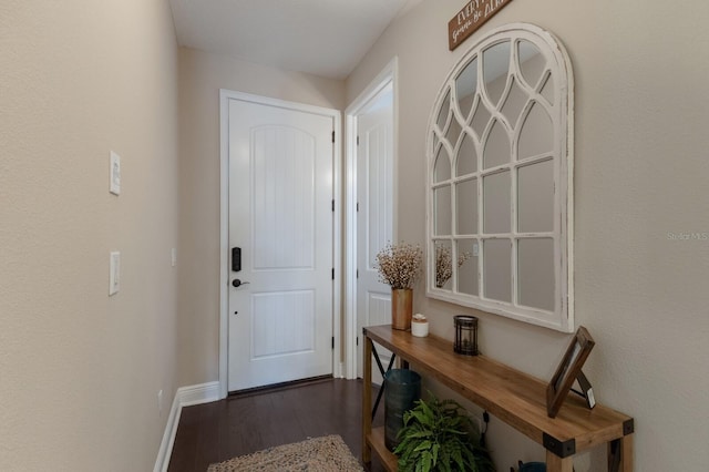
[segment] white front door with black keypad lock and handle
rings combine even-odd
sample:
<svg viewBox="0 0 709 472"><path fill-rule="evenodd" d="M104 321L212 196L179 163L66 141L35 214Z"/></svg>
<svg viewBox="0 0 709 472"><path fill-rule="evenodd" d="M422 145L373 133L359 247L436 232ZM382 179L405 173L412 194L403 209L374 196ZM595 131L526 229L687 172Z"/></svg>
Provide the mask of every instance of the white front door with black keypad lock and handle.
<svg viewBox="0 0 709 472"><path fill-rule="evenodd" d="M332 131L229 99L229 391L332 373Z"/></svg>

